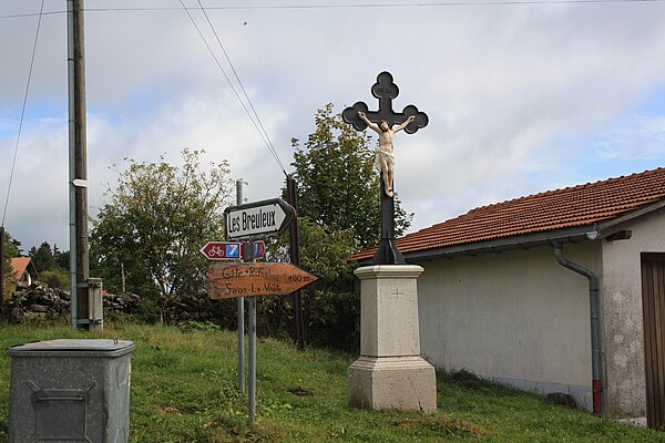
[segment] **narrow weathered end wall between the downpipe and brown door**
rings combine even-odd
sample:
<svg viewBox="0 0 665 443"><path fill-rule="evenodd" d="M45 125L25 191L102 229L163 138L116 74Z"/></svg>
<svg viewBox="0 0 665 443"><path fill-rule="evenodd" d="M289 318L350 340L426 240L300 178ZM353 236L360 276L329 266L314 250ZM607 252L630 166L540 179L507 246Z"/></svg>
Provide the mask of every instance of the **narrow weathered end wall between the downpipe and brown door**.
<svg viewBox="0 0 665 443"><path fill-rule="evenodd" d="M641 253L665 253L665 213L625 226L626 240L603 240L606 399L611 416L646 414Z"/></svg>

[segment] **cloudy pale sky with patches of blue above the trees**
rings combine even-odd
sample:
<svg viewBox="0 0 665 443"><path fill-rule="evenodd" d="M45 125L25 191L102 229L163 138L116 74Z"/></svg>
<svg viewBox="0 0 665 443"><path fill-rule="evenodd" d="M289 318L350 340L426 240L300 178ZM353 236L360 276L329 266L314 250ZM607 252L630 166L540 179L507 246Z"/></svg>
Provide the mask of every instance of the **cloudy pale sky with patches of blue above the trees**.
<svg viewBox="0 0 665 443"><path fill-rule="evenodd" d="M113 165L178 164L185 147L227 159L248 202L279 196L291 137L305 141L327 103L376 110L382 71L396 111L429 116L395 138L409 231L665 166L665 1L85 1L93 217ZM29 76L41 4L0 1L0 210L24 250L68 250L66 1L44 0Z"/></svg>

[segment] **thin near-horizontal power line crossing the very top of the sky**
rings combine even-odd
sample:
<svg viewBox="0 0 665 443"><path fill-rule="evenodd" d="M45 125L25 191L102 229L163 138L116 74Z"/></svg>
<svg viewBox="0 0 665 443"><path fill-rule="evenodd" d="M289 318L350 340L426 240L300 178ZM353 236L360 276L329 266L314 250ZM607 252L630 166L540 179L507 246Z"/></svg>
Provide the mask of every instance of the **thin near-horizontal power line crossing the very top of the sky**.
<svg viewBox="0 0 665 443"><path fill-rule="evenodd" d="M479 0L479 1L439 1L433 3L356 3L356 4L264 4L264 6L236 6L236 7L206 7L207 10L316 10L316 9L378 9L378 8L450 8L450 7L484 7L484 6L516 6L516 4L607 4L607 3L662 3L665 0ZM176 7L153 8L85 8L89 12L153 12L180 11ZM44 12L44 16L60 14L65 11ZM0 19L17 19L34 17L35 13L0 16Z"/></svg>

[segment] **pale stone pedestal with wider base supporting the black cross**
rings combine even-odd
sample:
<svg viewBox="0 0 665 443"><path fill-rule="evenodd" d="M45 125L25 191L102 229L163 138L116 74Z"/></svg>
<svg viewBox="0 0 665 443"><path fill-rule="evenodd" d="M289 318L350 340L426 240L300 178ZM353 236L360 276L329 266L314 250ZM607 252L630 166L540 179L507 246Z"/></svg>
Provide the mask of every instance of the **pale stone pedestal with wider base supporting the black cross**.
<svg viewBox="0 0 665 443"><path fill-rule="evenodd" d="M360 279L360 358L348 369L348 402L356 408L434 412L434 368L420 357L420 266L356 269Z"/></svg>

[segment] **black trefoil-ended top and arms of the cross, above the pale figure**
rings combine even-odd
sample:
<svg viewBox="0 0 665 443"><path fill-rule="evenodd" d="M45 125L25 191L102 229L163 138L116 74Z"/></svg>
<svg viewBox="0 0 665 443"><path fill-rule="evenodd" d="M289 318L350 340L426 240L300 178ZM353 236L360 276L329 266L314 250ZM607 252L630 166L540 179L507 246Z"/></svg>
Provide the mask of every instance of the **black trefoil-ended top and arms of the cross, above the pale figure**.
<svg viewBox="0 0 665 443"><path fill-rule="evenodd" d="M405 132L408 134L416 133L429 123L427 114L418 111L418 107L412 104L406 106L402 112L395 112L392 110L392 100L399 95L399 87L395 84L392 75L389 72L383 71L377 75L377 82L371 86L371 95L379 100L378 111L369 111L365 102L356 102L356 104L341 112L341 119L354 125L356 130L364 131L367 124L358 116L359 111L364 112L370 122L378 123L385 120L391 125L402 124L408 117L413 115L416 120L405 127Z"/></svg>

